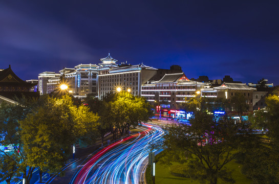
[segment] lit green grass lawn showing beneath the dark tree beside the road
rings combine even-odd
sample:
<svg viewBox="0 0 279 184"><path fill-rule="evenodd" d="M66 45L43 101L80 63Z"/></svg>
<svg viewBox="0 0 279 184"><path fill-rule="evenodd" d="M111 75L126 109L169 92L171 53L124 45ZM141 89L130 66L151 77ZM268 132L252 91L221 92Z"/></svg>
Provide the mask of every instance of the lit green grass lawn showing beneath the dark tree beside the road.
<svg viewBox="0 0 279 184"><path fill-rule="evenodd" d="M239 167L240 166L240 167ZM232 161L226 165L227 168L233 169L232 177L237 184L248 184L251 182L250 179L247 179L243 174L241 174L240 170L242 165L235 163ZM169 174L169 170L167 166L162 166L157 164L156 165L156 173L155 173L155 183L156 184L184 184L184 183L191 183L191 184L199 184L197 181L191 181L189 178L184 177L177 177Z"/></svg>

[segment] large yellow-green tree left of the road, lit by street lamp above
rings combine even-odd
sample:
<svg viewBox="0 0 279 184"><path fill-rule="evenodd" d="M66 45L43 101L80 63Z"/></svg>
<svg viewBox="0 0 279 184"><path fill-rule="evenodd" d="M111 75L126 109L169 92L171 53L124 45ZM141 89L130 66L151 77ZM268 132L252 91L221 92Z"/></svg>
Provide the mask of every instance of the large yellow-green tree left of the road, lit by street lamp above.
<svg viewBox="0 0 279 184"><path fill-rule="evenodd" d="M88 107L73 105L68 95L41 100L42 105L20 121L20 134L28 166L57 173L72 153L72 145L96 131L98 116Z"/></svg>

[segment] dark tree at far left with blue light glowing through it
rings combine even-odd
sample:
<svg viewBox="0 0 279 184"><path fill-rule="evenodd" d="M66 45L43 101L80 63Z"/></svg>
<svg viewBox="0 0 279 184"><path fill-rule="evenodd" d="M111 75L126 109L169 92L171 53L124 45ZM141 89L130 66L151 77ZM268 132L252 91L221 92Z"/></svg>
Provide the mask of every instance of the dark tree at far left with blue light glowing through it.
<svg viewBox="0 0 279 184"><path fill-rule="evenodd" d="M27 163L27 155L23 149L23 142L19 133L19 121L25 119L27 114L36 106L36 99L23 97L16 100L19 104L8 105L2 103L0 106L0 144L11 147L9 152L0 150L2 152L0 154L2 160L1 178L10 182L13 177L23 175L26 182L29 183L34 168L28 166ZM9 162L8 165L7 161ZM16 167L16 170L13 169L14 167Z"/></svg>

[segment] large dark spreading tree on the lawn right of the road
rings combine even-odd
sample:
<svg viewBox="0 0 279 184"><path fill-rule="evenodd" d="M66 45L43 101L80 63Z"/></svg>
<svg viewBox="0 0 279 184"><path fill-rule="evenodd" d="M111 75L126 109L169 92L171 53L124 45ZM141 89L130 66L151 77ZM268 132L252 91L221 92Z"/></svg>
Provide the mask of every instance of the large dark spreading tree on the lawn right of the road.
<svg viewBox="0 0 279 184"><path fill-rule="evenodd" d="M217 120L202 111L194 113L190 124L171 124L164 128L166 133L160 144L165 152L163 162L184 163L186 174L201 183L216 184L218 180L234 183L225 166L239 154L239 147L251 141L249 126L235 124L228 117Z"/></svg>

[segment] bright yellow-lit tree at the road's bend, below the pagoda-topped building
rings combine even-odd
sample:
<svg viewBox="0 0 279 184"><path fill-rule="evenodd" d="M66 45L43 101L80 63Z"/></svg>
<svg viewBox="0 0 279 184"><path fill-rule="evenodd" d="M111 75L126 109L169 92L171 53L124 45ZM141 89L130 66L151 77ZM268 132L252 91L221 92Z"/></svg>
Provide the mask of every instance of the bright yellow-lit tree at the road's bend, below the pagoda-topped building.
<svg viewBox="0 0 279 184"><path fill-rule="evenodd" d="M91 111L100 116L98 130L102 139L109 130L114 135L118 130L121 135L128 134L131 127L147 122L153 116L151 105L144 98L133 96L126 91L107 94L102 100L89 95L85 102Z"/></svg>

